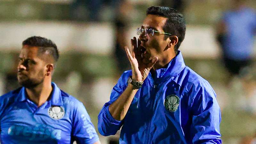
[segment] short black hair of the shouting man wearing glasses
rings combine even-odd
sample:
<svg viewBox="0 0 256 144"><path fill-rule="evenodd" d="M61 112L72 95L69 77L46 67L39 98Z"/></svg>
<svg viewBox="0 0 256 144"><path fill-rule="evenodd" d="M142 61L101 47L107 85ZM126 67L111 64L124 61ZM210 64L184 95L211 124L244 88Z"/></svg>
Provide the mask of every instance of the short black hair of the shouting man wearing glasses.
<svg viewBox="0 0 256 144"><path fill-rule="evenodd" d="M178 43L174 47L174 51L177 53L181 42L185 38L186 33L186 23L183 15L175 9L162 6L151 6L147 10L147 15L158 15L160 17L167 18L163 30L165 33L172 34L178 37ZM165 35L165 39L170 37L170 35Z"/></svg>

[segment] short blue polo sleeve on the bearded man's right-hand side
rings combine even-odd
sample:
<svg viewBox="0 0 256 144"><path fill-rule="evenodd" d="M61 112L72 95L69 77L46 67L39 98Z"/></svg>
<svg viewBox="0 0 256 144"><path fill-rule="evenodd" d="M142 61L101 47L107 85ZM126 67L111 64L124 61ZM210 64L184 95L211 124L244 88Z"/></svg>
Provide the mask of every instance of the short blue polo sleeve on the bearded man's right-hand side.
<svg viewBox="0 0 256 144"><path fill-rule="evenodd" d="M78 144L93 144L99 140L97 132L91 122L82 102L78 102L74 112L73 138Z"/></svg>

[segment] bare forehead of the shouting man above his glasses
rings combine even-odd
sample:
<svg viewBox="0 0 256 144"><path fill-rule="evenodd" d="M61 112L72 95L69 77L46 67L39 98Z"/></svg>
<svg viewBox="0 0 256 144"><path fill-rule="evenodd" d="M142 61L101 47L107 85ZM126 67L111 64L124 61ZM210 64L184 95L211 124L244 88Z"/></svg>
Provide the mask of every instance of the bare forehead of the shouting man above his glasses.
<svg viewBox="0 0 256 144"><path fill-rule="evenodd" d="M167 18L160 17L158 15L149 14L143 20L142 26L144 28L152 27L152 28L162 30L166 20L167 20Z"/></svg>

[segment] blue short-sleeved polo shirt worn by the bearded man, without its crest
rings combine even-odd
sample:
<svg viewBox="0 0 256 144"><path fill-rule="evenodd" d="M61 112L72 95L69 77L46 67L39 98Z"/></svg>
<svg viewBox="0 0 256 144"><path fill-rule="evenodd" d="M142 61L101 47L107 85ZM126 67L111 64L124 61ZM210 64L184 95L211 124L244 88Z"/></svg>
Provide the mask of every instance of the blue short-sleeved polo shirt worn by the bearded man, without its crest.
<svg viewBox="0 0 256 144"><path fill-rule="evenodd" d="M24 87L0 97L0 141L3 144L92 144L99 140L82 102L52 82L51 99L42 106L30 101ZM63 118L48 115L51 106L64 108Z"/></svg>

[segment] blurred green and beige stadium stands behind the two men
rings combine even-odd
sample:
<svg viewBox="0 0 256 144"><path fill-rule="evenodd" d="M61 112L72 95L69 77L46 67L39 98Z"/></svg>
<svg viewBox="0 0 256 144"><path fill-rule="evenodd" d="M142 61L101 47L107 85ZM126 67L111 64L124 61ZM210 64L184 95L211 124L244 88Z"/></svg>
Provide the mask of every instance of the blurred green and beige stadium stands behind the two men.
<svg viewBox="0 0 256 144"><path fill-rule="evenodd" d="M255 0L247 4L256 8ZM49 38L60 50L53 81L84 103L97 129L100 109L122 71L130 68L126 56L116 53L116 43L129 45L151 5L160 5L160 1L0 0L0 93L19 87L16 69L22 41L29 36ZM256 132L255 65L248 76L248 95L241 79L228 79L215 41L216 23L228 8L230 0L184 0L181 11L187 32L180 51L186 65L217 93L223 143L240 144ZM100 136L100 140L105 144L112 137Z"/></svg>

